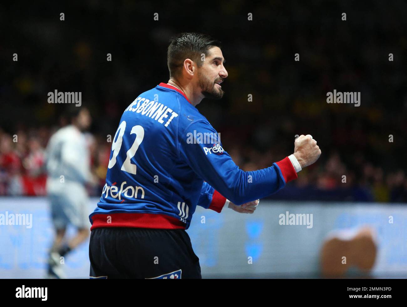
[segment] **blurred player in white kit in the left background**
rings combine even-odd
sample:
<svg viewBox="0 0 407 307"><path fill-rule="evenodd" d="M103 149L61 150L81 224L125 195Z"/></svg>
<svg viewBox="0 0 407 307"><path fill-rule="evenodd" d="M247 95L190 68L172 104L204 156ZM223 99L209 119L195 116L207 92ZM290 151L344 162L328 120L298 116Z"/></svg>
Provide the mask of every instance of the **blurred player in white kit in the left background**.
<svg viewBox="0 0 407 307"><path fill-rule="evenodd" d="M47 194L56 231L49 251L48 277L64 278L61 257L75 249L89 236L88 193L85 184L92 182L90 153L83 131L91 123L90 112L73 106L70 125L59 129L47 146ZM70 240L64 240L68 225L77 229Z"/></svg>

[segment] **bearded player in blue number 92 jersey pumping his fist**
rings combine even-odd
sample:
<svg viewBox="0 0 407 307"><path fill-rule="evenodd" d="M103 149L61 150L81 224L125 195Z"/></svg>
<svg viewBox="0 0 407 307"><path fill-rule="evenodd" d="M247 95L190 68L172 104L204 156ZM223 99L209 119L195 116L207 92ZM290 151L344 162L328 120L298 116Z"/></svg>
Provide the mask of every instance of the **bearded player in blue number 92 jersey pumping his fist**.
<svg viewBox="0 0 407 307"><path fill-rule="evenodd" d="M168 82L135 97L112 141L106 184L92 224L90 278L201 278L186 233L199 205L253 213L321 151L301 135L294 153L266 169L243 171L196 108L221 99L228 77L220 42L182 33L167 52Z"/></svg>

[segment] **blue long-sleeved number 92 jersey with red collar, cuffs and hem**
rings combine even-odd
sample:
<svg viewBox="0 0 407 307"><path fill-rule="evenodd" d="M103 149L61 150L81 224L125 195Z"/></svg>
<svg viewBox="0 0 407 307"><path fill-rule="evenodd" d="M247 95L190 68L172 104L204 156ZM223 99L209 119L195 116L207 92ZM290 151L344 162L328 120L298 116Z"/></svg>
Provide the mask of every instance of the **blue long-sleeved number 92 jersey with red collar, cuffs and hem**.
<svg viewBox="0 0 407 307"><path fill-rule="evenodd" d="M197 205L220 212L226 199L261 199L295 178L288 157L258 171L239 169L184 93L160 83L123 112L91 229L188 229Z"/></svg>

